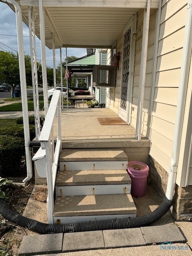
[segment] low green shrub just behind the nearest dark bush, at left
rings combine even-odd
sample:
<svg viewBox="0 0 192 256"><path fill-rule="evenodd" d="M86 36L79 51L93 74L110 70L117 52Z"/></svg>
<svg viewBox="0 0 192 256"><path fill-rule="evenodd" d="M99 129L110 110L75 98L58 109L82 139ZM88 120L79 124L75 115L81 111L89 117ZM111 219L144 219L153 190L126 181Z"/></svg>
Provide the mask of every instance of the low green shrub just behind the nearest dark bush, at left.
<svg viewBox="0 0 192 256"><path fill-rule="evenodd" d="M30 140L35 138L35 126L30 124L29 126ZM12 135L24 139L24 127L23 124L15 124L11 126L4 126L0 128L0 135Z"/></svg>

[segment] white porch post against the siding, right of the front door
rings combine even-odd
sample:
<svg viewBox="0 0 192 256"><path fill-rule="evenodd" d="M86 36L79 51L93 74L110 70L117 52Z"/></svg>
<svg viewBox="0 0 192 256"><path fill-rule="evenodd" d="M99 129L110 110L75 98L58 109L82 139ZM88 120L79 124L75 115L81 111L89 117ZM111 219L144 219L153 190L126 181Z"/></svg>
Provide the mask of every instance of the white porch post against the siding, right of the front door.
<svg viewBox="0 0 192 256"><path fill-rule="evenodd" d="M143 20L143 38L142 38L138 110L137 110L137 124L136 124L136 138L138 140L141 139L141 128L142 128L142 112L143 112L144 89L145 89L145 78L146 78L149 18L150 18L150 0L147 1L147 8L144 9L144 20Z"/></svg>

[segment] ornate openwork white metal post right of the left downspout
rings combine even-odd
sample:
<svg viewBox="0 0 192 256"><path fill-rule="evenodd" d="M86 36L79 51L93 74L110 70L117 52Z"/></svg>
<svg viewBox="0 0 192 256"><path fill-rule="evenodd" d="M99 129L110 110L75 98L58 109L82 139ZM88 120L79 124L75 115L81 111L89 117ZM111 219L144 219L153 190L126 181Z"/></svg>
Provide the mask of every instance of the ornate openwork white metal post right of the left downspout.
<svg viewBox="0 0 192 256"><path fill-rule="evenodd" d="M40 136L40 113L39 113L39 92L38 92L36 41L35 41L35 31L34 31L34 8L33 7L28 7L28 19L29 19L31 73L32 73L34 117L35 117L35 135L36 135L36 140L38 140Z"/></svg>

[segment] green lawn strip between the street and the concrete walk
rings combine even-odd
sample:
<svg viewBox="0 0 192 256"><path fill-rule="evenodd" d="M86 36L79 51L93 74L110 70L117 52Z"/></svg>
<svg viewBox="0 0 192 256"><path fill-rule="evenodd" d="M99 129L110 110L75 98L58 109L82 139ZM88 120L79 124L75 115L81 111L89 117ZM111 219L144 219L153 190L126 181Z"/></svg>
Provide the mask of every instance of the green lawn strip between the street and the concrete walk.
<svg viewBox="0 0 192 256"><path fill-rule="evenodd" d="M44 106L44 102L40 101L39 102L39 108L40 110L43 109ZM34 110L34 106L33 106L33 101L28 101L28 110L29 111L33 111ZM15 102L13 104L10 105L6 105L6 106L0 106L0 112L3 111L22 111L22 103L21 102Z"/></svg>

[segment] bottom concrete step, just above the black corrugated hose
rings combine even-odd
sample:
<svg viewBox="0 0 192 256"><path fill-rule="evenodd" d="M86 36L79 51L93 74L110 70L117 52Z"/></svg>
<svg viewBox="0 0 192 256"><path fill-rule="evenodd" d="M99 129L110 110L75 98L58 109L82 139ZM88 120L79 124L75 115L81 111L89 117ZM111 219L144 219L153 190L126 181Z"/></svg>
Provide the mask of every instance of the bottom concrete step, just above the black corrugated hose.
<svg viewBox="0 0 192 256"><path fill-rule="evenodd" d="M136 207L130 194L57 196L53 216L58 224L128 218L136 216Z"/></svg>

